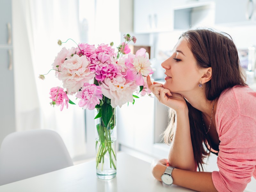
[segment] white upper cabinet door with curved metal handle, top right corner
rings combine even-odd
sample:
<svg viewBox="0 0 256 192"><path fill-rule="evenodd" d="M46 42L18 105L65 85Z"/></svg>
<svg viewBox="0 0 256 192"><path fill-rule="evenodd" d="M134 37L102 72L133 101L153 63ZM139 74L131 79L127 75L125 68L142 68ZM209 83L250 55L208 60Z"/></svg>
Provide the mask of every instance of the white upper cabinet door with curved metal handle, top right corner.
<svg viewBox="0 0 256 192"><path fill-rule="evenodd" d="M254 0L215 0L215 23L249 22L255 20Z"/></svg>

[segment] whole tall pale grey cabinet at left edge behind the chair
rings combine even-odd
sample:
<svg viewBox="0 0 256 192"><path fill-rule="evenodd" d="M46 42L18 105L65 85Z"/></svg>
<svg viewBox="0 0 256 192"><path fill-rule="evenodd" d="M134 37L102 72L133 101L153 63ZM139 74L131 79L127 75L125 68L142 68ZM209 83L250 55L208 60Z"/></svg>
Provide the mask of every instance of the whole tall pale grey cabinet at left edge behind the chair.
<svg viewBox="0 0 256 192"><path fill-rule="evenodd" d="M6 135L15 131L14 74L12 66L12 1L0 6L0 145Z"/></svg>

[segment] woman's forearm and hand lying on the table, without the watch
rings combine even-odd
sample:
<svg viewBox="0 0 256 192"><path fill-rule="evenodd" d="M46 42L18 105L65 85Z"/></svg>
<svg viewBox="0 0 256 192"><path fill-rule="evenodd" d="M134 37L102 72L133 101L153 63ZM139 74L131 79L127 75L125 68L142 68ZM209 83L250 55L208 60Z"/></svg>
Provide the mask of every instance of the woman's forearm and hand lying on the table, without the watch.
<svg viewBox="0 0 256 192"><path fill-rule="evenodd" d="M152 164L153 176L161 181L161 176L166 169L167 159L156 161ZM173 184L196 191L217 192L212 181L212 172L195 172L181 169L173 169Z"/></svg>

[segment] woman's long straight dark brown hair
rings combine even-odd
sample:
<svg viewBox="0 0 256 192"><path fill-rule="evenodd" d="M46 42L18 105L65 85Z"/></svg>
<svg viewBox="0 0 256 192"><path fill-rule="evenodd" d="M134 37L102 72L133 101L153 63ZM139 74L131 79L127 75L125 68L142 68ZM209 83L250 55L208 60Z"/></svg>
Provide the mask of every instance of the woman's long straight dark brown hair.
<svg viewBox="0 0 256 192"><path fill-rule="evenodd" d="M218 98L222 91L235 85L245 86L245 76L239 63L236 46L230 35L224 32L215 32L212 29L196 29L184 32L180 38L186 38L188 47L196 59L198 68L212 67L212 78L205 83L205 95L207 100ZM179 39L180 39L179 38ZM205 133L201 111L194 108L186 99L190 135L196 164L204 171L203 159L210 156L211 141ZM169 124L164 131L164 142L170 143L175 129L175 111L170 108ZM204 149L207 143L210 151Z"/></svg>

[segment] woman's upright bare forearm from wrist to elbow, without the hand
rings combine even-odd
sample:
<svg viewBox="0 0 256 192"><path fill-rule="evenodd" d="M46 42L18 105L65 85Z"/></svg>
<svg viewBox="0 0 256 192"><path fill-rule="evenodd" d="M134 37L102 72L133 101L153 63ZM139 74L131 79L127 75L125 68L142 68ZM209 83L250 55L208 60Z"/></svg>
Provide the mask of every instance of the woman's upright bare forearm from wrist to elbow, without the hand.
<svg viewBox="0 0 256 192"><path fill-rule="evenodd" d="M169 152L169 165L195 171L195 157L190 136L188 110L176 112L176 127Z"/></svg>

